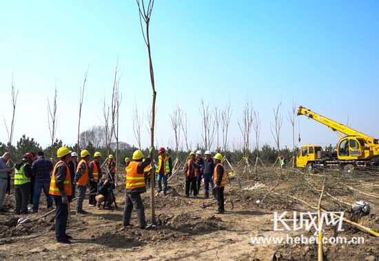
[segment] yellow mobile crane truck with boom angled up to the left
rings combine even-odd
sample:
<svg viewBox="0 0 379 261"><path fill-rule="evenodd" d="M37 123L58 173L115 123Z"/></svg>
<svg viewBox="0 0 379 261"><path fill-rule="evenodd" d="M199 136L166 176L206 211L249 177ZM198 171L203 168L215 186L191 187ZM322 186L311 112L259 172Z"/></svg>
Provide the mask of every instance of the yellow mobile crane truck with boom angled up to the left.
<svg viewBox="0 0 379 261"><path fill-rule="evenodd" d="M352 172L355 169L376 167L373 159L379 157L378 139L334 122L303 106L298 107L298 115L305 115L309 119L325 124L331 131L337 133L340 141L338 141L337 150L329 153L322 151L322 147L318 145L301 147L296 158L296 166L305 168L307 172L314 172L315 168L337 168Z"/></svg>

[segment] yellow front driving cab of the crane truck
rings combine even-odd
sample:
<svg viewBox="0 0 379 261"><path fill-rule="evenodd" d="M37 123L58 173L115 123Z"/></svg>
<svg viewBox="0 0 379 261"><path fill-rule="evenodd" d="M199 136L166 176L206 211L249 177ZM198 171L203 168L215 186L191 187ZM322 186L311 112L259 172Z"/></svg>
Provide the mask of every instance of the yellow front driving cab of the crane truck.
<svg viewBox="0 0 379 261"><path fill-rule="evenodd" d="M316 159L321 157L322 147L319 145L305 145L300 148L296 157L296 166L303 168L306 172L313 172Z"/></svg>

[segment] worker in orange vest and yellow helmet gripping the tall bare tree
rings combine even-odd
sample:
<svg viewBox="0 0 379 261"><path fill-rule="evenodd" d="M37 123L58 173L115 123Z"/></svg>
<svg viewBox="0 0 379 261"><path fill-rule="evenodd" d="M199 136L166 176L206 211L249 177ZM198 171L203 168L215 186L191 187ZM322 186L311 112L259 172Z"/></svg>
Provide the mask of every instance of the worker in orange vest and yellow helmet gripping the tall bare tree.
<svg viewBox="0 0 379 261"><path fill-rule="evenodd" d="M150 148L152 152L154 148ZM147 225L145 220L145 207L143 206L141 193L146 192L144 169L150 165L151 159L147 157L143 161L141 150L133 153L133 161L127 166L126 190L125 190L125 206L123 209L123 226L130 226L130 216L133 207L136 209L139 219L139 227L148 229L151 225Z"/></svg>

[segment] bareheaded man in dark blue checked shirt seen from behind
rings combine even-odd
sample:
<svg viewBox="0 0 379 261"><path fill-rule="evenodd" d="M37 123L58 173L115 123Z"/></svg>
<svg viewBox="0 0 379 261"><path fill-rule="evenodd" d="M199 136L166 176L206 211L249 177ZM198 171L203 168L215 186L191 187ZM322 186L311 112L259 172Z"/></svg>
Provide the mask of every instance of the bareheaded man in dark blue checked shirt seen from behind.
<svg viewBox="0 0 379 261"><path fill-rule="evenodd" d="M41 190L45 193L48 209L52 207L52 197L50 190L50 174L53 166L50 159L45 159L42 151L37 153L38 159L32 163L32 174L34 175L34 193L33 193L33 213L37 213L39 209L39 197Z"/></svg>

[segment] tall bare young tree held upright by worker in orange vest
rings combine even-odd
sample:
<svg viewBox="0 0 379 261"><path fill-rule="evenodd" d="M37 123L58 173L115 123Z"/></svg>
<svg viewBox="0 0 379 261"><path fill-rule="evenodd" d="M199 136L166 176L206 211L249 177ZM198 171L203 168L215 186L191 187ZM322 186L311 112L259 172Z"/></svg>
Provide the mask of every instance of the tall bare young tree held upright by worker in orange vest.
<svg viewBox="0 0 379 261"><path fill-rule="evenodd" d="M150 123L150 147L154 148L154 126L155 126L155 100L156 100L156 90L155 90L155 82L154 82L154 69L152 64L152 53L150 46L150 36L149 36L149 25L150 25L150 17L152 16L152 9L154 6L154 0L149 0L147 7L145 8L145 3L143 0L136 0L137 5L139 7L139 20L141 23L141 30L143 34L143 39L145 40L145 44L147 46L147 53L149 56L149 71L150 71L150 82L152 84L152 121ZM143 27L142 20L145 22L145 29ZM152 159L152 163L154 163L153 152L150 152L150 159ZM154 184L154 173L151 174L151 184ZM151 186L151 208L152 208L152 223L155 224L155 201L154 201L154 186Z"/></svg>

